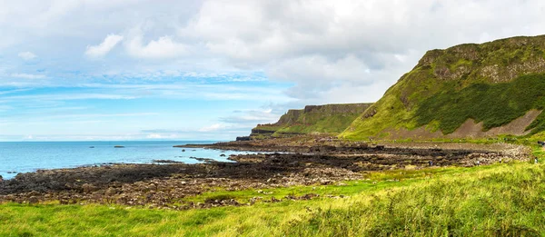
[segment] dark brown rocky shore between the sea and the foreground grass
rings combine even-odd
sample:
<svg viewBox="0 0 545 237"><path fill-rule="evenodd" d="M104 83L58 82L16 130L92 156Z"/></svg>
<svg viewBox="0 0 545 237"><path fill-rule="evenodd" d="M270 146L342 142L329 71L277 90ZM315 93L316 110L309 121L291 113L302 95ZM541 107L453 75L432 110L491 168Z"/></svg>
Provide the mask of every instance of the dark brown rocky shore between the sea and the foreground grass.
<svg viewBox="0 0 545 237"><path fill-rule="evenodd" d="M525 160L529 149L501 144L467 147L406 147L393 144L341 143L332 140L232 142L183 147L278 152L240 154L233 163L206 161L185 164L112 164L74 169L20 173L0 181L0 202L116 203L152 208L189 209L252 204L218 197L195 203L186 201L214 190L237 191L294 185L324 185L362 179L364 173L392 169L438 166L473 166ZM316 194L286 196L286 200L311 199ZM261 202L280 202L278 199Z"/></svg>

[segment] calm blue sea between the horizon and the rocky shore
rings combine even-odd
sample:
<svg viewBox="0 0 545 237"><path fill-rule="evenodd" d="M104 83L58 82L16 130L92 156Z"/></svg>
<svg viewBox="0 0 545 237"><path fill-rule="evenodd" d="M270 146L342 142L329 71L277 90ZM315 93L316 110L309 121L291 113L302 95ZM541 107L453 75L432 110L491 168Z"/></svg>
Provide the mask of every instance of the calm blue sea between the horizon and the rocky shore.
<svg viewBox="0 0 545 237"><path fill-rule="evenodd" d="M211 141L138 141L138 142L16 142L0 143L0 175L5 179L17 173L37 169L71 168L103 163L152 163L153 160L173 160L199 163L190 157L228 161L232 151L199 148L173 148L186 143L214 143ZM123 145L124 148L114 148ZM90 148L94 146L94 148ZM220 156L222 153L224 157Z"/></svg>

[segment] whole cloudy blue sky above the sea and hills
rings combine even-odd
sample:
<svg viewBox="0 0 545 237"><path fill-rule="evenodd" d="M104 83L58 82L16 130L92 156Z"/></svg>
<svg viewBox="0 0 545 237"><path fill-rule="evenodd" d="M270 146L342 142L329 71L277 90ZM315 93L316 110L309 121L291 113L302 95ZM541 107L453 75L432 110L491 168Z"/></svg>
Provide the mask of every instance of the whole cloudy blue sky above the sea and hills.
<svg viewBox="0 0 545 237"><path fill-rule="evenodd" d="M375 102L427 50L545 34L541 0L0 5L0 141L233 140Z"/></svg>

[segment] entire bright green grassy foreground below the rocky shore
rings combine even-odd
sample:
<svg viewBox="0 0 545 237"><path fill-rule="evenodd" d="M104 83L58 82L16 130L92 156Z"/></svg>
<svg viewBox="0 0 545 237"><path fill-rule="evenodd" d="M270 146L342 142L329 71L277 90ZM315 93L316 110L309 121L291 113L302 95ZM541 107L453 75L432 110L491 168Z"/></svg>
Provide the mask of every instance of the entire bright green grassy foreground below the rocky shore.
<svg viewBox="0 0 545 237"><path fill-rule="evenodd" d="M349 194L345 198L183 212L1 204L0 236L545 235L542 164L372 173L369 178L316 191Z"/></svg>

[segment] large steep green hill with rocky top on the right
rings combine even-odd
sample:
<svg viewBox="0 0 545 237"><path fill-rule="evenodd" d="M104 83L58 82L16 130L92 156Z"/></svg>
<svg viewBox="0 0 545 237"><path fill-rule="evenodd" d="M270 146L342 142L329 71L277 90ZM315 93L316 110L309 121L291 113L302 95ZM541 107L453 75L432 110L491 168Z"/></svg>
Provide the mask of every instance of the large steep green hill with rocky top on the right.
<svg viewBox="0 0 545 237"><path fill-rule="evenodd" d="M544 52L545 35L431 50L341 136L419 139L543 132Z"/></svg>

